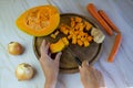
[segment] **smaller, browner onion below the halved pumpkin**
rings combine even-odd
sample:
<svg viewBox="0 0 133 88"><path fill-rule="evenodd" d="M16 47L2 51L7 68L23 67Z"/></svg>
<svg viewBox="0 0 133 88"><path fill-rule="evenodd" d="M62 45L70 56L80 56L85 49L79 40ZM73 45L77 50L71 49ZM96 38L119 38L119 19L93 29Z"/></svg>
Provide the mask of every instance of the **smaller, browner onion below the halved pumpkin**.
<svg viewBox="0 0 133 88"><path fill-rule="evenodd" d="M8 44L8 52L11 55L20 55L23 53L23 47L20 43L18 42L10 42Z"/></svg>

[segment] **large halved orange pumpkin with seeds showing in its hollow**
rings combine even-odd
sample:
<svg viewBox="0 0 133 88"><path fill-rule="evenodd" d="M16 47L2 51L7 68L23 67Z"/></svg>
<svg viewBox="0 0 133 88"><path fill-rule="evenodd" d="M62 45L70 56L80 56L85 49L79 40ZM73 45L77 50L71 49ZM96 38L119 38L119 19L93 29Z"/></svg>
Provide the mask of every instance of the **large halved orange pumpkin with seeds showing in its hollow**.
<svg viewBox="0 0 133 88"><path fill-rule="evenodd" d="M40 6L27 10L16 21L17 26L33 36L52 33L60 23L60 13L53 6Z"/></svg>

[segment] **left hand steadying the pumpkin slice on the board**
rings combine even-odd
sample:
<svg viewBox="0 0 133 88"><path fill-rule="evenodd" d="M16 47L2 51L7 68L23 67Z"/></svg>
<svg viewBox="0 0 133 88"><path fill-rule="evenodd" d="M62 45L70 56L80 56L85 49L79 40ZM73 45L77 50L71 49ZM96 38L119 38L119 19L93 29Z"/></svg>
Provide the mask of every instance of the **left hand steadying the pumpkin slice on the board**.
<svg viewBox="0 0 133 88"><path fill-rule="evenodd" d="M59 74L59 62L62 53L58 53L55 58L51 58L51 53L49 52L49 43L45 40L42 42L40 47L40 63L45 76L45 87L44 88L54 88L57 84L57 78ZM52 87L48 87L52 86ZM53 87L54 86L54 87Z"/></svg>

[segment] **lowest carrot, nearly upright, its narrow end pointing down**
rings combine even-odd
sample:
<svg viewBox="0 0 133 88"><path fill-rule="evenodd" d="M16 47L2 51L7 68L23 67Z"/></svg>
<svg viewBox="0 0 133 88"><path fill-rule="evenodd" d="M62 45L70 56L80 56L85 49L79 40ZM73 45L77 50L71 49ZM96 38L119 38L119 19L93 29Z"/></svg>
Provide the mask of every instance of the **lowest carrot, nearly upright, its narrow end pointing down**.
<svg viewBox="0 0 133 88"><path fill-rule="evenodd" d="M114 57L119 51L121 41L122 41L122 34L117 33L117 35L115 36L113 48L112 48L110 56L109 56L109 59L108 59L109 63L112 63L114 61Z"/></svg>

